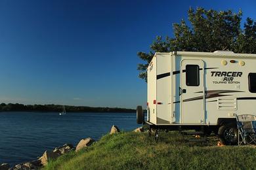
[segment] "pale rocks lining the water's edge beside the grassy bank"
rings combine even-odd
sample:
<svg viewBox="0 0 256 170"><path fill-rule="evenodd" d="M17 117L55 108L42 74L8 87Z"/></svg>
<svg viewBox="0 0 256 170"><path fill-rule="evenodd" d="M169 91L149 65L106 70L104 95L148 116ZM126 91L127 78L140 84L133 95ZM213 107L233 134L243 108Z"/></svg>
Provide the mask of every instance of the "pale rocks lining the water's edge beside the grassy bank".
<svg viewBox="0 0 256 170"><path fill-rule="evenodd" d="M110 129L110 134L118 133L120 130L117 126L113 125ZM143 132L143 127L139 127L134 130L134 132ZM54 150L45 150L43 155L33 161L28 161L25 163L19 163L17 165L14 165L14 167L11 167L8 163L1 163L0 170L32 170L32 169L41 169L45 165L47 165L49 160L55 160L56 158L75 150L75 152L78 152L84 147L91 146L96 141L92 139L91 137L87 137L85 139L81 139L76 147L74 147L72 144L64 144L62 146L58 146L54 148Z"/></svg>

